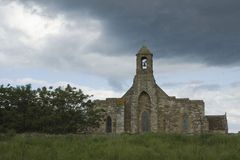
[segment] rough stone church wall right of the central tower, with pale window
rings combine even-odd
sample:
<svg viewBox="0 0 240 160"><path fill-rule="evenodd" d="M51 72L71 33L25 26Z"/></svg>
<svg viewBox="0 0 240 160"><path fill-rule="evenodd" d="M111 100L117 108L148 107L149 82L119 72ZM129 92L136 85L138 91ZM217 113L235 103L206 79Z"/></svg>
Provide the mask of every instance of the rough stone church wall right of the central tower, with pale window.
<svg viewBox="0 0 240 160"><path fill-rule="evenodd" d="M158 106L159 132L201 133L204 131L203 101L169 97L160 99Z"/></svg>

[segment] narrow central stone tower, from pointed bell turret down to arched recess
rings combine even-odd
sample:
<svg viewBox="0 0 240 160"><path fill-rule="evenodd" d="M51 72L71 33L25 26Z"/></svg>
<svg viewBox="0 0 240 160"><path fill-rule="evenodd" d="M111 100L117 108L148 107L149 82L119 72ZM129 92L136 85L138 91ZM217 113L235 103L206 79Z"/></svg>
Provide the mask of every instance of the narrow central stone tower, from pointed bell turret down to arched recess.
<svg viewBox="0 0 240 160"><path fill-rule="evenodd" d="M143 46L136 55L137 69L136 76L134 78L134 95L136 105L132 105L132 113L135 114L134 122L132 121L132 126L134 126L134 132L149 132L156 130L155 124L155 98L156 95L156 83L153 76L153 54L150 50Z"/></svg>

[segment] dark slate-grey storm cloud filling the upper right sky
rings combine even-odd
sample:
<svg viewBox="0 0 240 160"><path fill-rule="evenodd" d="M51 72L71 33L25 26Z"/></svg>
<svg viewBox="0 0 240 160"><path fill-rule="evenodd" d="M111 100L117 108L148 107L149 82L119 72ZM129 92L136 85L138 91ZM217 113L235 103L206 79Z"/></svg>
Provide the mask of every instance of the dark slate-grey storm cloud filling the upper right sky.
<svg viewBox="0 0 240 160"><path fill-rule="evenodd" d="M157 57L184 57L208 65L240 64L239 0L22 2L43 5L53 15L62 13L75 20L79 15L100 19L106 38L93 49L105 54L135 53L145 40Z"/></svg>

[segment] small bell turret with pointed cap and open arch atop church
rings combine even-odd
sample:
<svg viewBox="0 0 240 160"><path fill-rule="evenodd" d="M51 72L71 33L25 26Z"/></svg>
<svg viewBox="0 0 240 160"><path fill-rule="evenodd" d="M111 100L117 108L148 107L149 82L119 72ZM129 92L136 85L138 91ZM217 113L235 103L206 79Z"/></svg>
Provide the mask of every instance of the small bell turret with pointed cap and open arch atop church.
<svg viewBox="0 0 240 160"><path fill-rule="evenodd" d="M152 53L146 46L143 46L137 53L137 75L153 74Z"/></svg>

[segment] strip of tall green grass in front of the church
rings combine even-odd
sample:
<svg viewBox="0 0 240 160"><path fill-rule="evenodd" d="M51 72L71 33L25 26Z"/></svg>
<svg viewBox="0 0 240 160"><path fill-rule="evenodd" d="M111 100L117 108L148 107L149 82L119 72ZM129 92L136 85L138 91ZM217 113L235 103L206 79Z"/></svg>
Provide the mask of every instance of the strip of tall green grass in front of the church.
<svg viewBox="0 0 240 160"><path fill-rule="evenodd" d="M238 160L240 135L0 136L0 160Z"/></svg>

